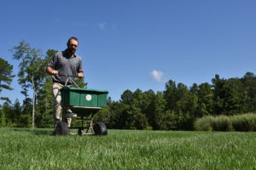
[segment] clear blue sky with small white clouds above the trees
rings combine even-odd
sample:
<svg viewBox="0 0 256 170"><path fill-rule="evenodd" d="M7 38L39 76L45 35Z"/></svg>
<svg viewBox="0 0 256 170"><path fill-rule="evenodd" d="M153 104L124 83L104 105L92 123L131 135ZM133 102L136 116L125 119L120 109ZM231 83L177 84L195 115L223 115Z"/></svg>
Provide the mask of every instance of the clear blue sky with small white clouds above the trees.
<svg viewBox="0 0 256 170"><path fill-rule="evenodd" d="M119 100L126 90L165 90L172 79L190 87L256 72L256 0L9 0L0 5L0 57L21 40L43 54L79 38L88 88ZM12 91L20 102L17 77Z"/></svg>

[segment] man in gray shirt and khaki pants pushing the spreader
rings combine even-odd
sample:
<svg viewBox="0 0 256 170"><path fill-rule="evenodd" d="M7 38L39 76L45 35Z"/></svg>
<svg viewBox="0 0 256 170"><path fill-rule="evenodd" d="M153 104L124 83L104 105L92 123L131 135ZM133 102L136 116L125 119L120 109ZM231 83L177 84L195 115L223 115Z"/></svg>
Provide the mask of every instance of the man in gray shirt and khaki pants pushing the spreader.
<svg viewBox="0 0 256 170"><path fill-rule="evenodd" d="M79 78L84 77L82 59L78 54L75 54L79 46L79 40L76 37L70 37L67 41L67 49L62 52L57 52L49 61L46 72L52 75L52 94L55 99L54 111L54 126L57 122L61 122L61 88L64 87L67 77L60 75L77 75ZM72 81L67 82L67 86L73 85ZM67 110L67 125L70 127L71 118L77 115L71 110Z"/></svg>

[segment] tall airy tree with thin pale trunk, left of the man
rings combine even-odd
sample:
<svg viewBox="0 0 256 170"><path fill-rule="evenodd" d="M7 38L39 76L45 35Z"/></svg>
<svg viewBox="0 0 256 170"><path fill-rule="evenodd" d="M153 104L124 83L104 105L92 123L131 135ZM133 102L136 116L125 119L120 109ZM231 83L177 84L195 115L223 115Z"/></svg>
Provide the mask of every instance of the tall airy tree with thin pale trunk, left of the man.
<svg viewBox="0 0 256 170"><path fill-rule="evenodd" d="M37 48L31 48L29 43L21 41L18 46L11 49L14 59L20 60L18 82L23 88L23 94L27 95L28 88L32 88L32 128L34 128L35 106L38 90L42 87L45 78L45 59Z"/></svg>

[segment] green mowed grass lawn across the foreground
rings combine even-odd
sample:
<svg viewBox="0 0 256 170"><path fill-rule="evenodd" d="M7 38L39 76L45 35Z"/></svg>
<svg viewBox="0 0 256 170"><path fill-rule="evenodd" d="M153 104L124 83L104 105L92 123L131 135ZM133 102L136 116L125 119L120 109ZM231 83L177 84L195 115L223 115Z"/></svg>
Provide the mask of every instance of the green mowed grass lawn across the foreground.
<svg viewBox="0 0 256 170"><path fill-rule="evenodd" d="M256 133L0 128L0 169L256 169Z"/></svg>

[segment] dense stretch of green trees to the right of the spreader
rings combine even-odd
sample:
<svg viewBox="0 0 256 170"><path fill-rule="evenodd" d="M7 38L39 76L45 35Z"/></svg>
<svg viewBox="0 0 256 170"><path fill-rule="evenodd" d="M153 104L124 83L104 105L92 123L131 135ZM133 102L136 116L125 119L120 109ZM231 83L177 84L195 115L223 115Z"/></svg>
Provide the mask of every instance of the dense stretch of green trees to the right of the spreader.
<svg viewBox="0 0 256 170"><path fill-rule="evenodd" d="M172 80L162 92L135 92L127 89L119 101L108 99L108 107L98 119L111 128L193 130L202 116L233 116L256 109L256 77L247 72L241 78L220 78L212 83L194 83L187 87Z"/></svg>

